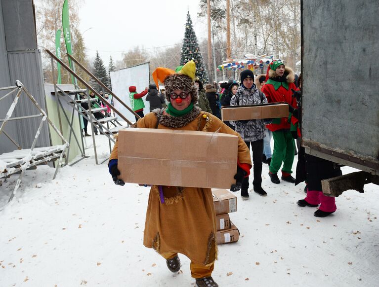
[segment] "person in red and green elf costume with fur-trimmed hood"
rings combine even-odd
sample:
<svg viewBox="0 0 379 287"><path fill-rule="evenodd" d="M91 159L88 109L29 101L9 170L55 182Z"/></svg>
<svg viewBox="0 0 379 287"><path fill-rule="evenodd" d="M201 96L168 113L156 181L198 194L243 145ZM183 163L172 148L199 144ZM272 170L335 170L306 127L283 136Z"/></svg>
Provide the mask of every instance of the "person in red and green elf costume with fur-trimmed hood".
<svg viewBox="0 0 379 287"><path fill-rule="evenodd" d="M267 69L266 83L262 92L266 95L269 103L285 102L296 108L296 99L292 97L292 90L296 89L294 84L295 73L292 69L285 67L282 61L273 61ZM278 171L283 163L282 180L295 183L292 177L292 164L295 156L295 142L291 134L290 117L277 118L267 125L274 139L274 151L272 154L269 173L273 183L280 183Z"/></svg>

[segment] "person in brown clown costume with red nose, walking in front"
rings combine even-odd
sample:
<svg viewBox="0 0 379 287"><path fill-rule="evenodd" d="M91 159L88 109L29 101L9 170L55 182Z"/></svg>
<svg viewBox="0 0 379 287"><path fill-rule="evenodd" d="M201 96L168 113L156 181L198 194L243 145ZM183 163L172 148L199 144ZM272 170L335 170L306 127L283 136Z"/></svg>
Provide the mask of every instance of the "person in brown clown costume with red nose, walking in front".
<svg viewBox="0 0 379 287"><path fill-rule="evenodd" d="M249 149L241 137L216 116L195 106L198 100L198 90L194 84L195 70L193 61L176 72L167 68L157 68L153 72L153 78L157 86L158 79L164 83L168 108L148 113L137 121L136 127L217 131L238 136L238 167L235 179L240 186L244 177L249 176L252 167ZM119 142L116 141L108 167L114 182L123 185L124 182L117 178L120 175L117 168L118 145ZM199 148L170 146L170 143L166 145L168 148L179 148L183 151L186 148ZM191 260L191 275L196 279L197 286L217 287L211 277L217 257L216 222L211 189L151 186L143 244L161 254L171 272L180 270L177 254L186 255Z"/></svg>

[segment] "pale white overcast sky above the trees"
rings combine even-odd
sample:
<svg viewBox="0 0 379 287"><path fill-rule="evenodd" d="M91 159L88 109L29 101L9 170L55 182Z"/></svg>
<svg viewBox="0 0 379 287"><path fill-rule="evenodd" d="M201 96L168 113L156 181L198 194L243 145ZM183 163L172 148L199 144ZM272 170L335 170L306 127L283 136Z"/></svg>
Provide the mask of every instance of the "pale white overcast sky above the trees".
<svg viewBox="0 0 379 287"><path fill-rule="evenodd" d="M105 66L122 51L139 45L152 47L182 42L187 10L198 40L207 36L207 22L199 19L200 0L85 0L80 8L80 30L92 59L99 51Z"/></svg>

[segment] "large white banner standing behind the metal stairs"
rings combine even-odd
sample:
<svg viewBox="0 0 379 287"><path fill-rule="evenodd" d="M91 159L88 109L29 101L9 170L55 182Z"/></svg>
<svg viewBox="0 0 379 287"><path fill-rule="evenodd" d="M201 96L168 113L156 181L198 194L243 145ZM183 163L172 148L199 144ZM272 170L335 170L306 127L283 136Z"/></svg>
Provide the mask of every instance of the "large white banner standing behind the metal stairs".
<svg viewBox="0 0 379 287"><path fill-rule="evenodd" d="M129 100L129 87L136 86L136 92L141 93L145 88L149 88L149 62L140 64L137 66L117 70L115 72L110 72L112 92L115 93L127 106L131 107ZM146 115L149 109L149 103L145 101L146 96L144 96L143 102L145 103L145 108L143 113ZM123 105L114 99L114 106L117 108L125 117L131 121L135 122L134 115L128 111Z"/></svg>

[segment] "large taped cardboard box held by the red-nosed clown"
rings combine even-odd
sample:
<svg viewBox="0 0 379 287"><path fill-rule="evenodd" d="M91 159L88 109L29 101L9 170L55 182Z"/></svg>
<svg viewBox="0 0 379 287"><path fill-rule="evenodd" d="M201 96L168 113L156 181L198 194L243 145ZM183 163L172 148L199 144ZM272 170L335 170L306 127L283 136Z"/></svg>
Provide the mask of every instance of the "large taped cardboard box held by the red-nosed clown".
<svg viewBox="0 0 379 287"><path fill-rule="evenodd" d="M119 132L118 168L125 182L230 188L238 137L198 131L128 128Z"/></svg>

